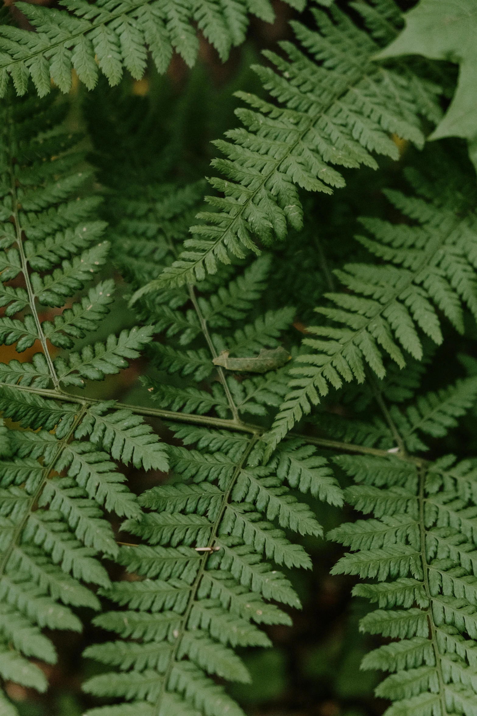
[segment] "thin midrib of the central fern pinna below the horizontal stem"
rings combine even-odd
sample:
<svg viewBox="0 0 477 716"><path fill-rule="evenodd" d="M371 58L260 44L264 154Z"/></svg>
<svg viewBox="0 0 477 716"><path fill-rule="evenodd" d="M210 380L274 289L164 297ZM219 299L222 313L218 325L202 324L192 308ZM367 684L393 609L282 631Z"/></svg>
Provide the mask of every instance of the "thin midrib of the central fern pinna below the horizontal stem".
<svg viewBox="0 0 477 716"><path fill-rule="evenodd" d="M180 642L182 640L182 637L185 634L185 630L187 629L187 621L189 621L190 612L192 611L192 607L194 606L194 602L195 602L195 597L197 596L197 590L199 589L200 582L202 580L202 575L205 572L207 558L209 557L210 553L213 550L214 542L217 538L217 530L218 530L220 523L222 521L222 517L224 516L225 509L227 508L227 503L230 498L230 493L232 493L232 490L234 488L237 477L240 474L240 470L242 470L242 467L243 467L245 461L247 460L248 456L252 452L252 448L255 445L255 442L257 442L258 438L259 438L259 433L257 433L257 432L255 432L254 435L252 435L252 437L250 437L250 440L247 445L247 449L245 450L244 454L242 455L240 463L237 464L237 467L235 468L235 472L232 475L232 478L230 479L230 485L228 486L227 491L224 493L224 495L222 497L222 508L220 509L220 513L217 515L215 523L213 524L212 529L210 531L210 538L209 538L209 542L207 544L207 547L210 549L205 551L204 556L202 557L202 560L200 563L199 570L197 571L197 576L195 577L195 581L192 585L189 602L187 604L187 608L185 610L184 617L182 619L180 633L177 635L176 644L174 646L174 649L172 650L172 654L171 654L171 657L169 660L169 664L167 666L167 670L164 673L164 679L162 681L162 688L159 692L159 696L157 697L156 702L154 703L153 716L159 716L159 711L161 709L162 697L164 696L164 693L167 691L167 683L169 682L170 676L172 674L172 669L174 668L174 662L176 661L176 658L177 658L177 652L180 647Z"/></svg>

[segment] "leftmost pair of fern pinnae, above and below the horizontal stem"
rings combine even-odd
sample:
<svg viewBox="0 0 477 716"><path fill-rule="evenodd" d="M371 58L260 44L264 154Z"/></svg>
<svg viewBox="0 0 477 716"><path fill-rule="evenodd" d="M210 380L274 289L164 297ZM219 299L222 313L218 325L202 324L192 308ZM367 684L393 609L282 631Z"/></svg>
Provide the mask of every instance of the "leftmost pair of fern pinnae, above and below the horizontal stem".
<svg viewBox="0 0 477 716"><path fill-rule="evenodd" d="M55 357L97 329L114 291L111 279L89 288L109 245L86 191L91 175L77 169L78 137L62 130L66 110L54 95L9 95L0 107L0 334L19 353L32 349L30 362L0 365L0 410L20 425L0 436L0 675L39 691L46 677L29 657L56 661L41 629L81 631L71 607L99 610L91 586L110 585L99 553L115 558L119 548L103 510L141 514L109 454L167 469L142 417L64 392L127 367L152 335L136 327ZM44 306L67 302L41 319Z"/></svg>

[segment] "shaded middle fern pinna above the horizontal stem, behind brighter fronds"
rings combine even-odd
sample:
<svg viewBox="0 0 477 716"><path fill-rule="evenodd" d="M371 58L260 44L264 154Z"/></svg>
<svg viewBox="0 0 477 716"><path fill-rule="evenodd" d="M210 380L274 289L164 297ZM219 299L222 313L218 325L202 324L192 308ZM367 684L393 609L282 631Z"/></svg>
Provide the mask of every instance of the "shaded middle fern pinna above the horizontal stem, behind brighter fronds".
<svg viewBox="0 0 477 716"><path fill-rule="evenodd" d="M164 166L161 155L158 159L144 152L145 124L139 122L134 134L134 160L129 164L128 158L117 159L113 173L106 169L114 161L114 135L108 141L102 130L92 127L94 158L109 182L107 236L112 256L133 289L147 284L152 274L160 275L177 257L189 210L197 206L202 190L200 183L180 185L163 176L158 180ZM214 410L222 418L237 419L247 412L267 415L268 406L280 405L286 391L286 368L263 376L246 374L242 379L213 362L222 351L253 357L262 348L278 347L285 332L288 341L296 340L296 332L290 334L295 316L292 306L263 314L255 308L267 288L269 273L270 256L262 256L244 269L224 267L221 274L197 287L166 289L144 296L137 304L139 319L152 322L154 332L164 334L164 342L151 342L147 349L159 374L142 379L159 407L199 415ZM255 314L249 318L252 309Z"/></svg>

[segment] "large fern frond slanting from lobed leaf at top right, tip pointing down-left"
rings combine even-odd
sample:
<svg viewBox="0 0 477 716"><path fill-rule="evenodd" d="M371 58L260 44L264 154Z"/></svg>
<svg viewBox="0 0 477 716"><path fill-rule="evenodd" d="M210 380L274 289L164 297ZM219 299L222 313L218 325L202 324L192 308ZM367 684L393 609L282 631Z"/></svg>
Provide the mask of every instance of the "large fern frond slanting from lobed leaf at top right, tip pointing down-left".
<svg viewBox="0 0 477 716"><path fill-rule="evenodd" d="M229 141L215 142L225 159L212 165L225 179L209 181L224 196L206 200L217 211L197 215L202 223L191 228L185 250L136 296L195 283L215 273L217 262L259 253L254 238L265 246L282 241L287 226L303 226L299 188L331 194L345 185L334 166L377 168L373 153L397 159L390 133L423 145L419 116L436 120L436 88L406 67L372 62L382 34L370 18L392 28L385 8L369 6L365 14L375 39L335 6L329 13L312 11L318 31L292 21L303 51L282 42L288 59L265 52L276 72L253 68L277 104L237 93L251 109L236 112L245 127L227 132Z"/></svg>

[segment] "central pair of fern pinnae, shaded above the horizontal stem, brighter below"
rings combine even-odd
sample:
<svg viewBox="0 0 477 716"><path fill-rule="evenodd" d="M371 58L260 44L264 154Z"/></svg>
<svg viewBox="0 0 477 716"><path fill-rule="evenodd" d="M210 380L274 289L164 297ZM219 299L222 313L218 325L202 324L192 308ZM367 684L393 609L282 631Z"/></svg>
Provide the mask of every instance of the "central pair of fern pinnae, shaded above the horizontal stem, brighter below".
<svg viewBox="0 0 477 716"><path fill-rule="evenodd" d="M99 143L97 150L103 151ZM109 157L114 157L112 150L99 157L103 170ZM148 280L147 271L170 265L185 236L181 226L175 234L171 231L157 185L149 184L144 200L142 187L134 184L137 170L129 172L125 163L114 166L115 179L108 181L117 211L108 238L119 265L129 263L124 273L135 289ZM141 171L154 173L155 167L145 158ZM175 186L167 193L172 208L176 197L180 204L183 191ZM178 425L174 418L167 422L183 442L167 448L172 482L145 490L139 496L142 515L122 524L122 532L141 543L122 546L117 559L139 579L102 589L101 595L124 611L117 607L94 623L129 641L92 647L86 654L131 678L121 680L117 671L94 677L85 687L93 695L123 697L134 708L149 699L161 712L172 708L169 697L174 695L188 716L195 710L218 714L221 705L238 713L239 707L217 692L210 675L247 682L250 677L232 648L266 646L267 637L255 625L290 624L290 616L270 604L271 599L300 607L290 581L275 565L310 568L310 557L290 532L319 536L322 528L297 495L310 492L339 505L341 490L327 461L303 441L290 441L263 466L262 430L250 428L256 430L252 437L239 432L243 424L236 414L266 416L278 407L287 368L235 377L213 362L222 349L252 357L264 345L292 340L294 309L264 313L260 304L256 307L267 289L270 263L263 256L244 268L221 271L194 289L164 289L137 304L139 319L154 321L154 332L162 334L161 342L147 349L161 372L142 378L150 397L185 420L190 413L204 416L211 427ZM114 405L110 408L114 415ZM103 415L102 410L99 406L97 412ZM232 413L229 426L237 432L217 429L207 415L212 410L222 420ZM85 420L80 430L93 436L89 417ZM98 445L100 440L104 438L98 438ZM209 690L217 694L217 706L207 697ZM102 709L107 715L126 712L129 705Z"/></svg>

